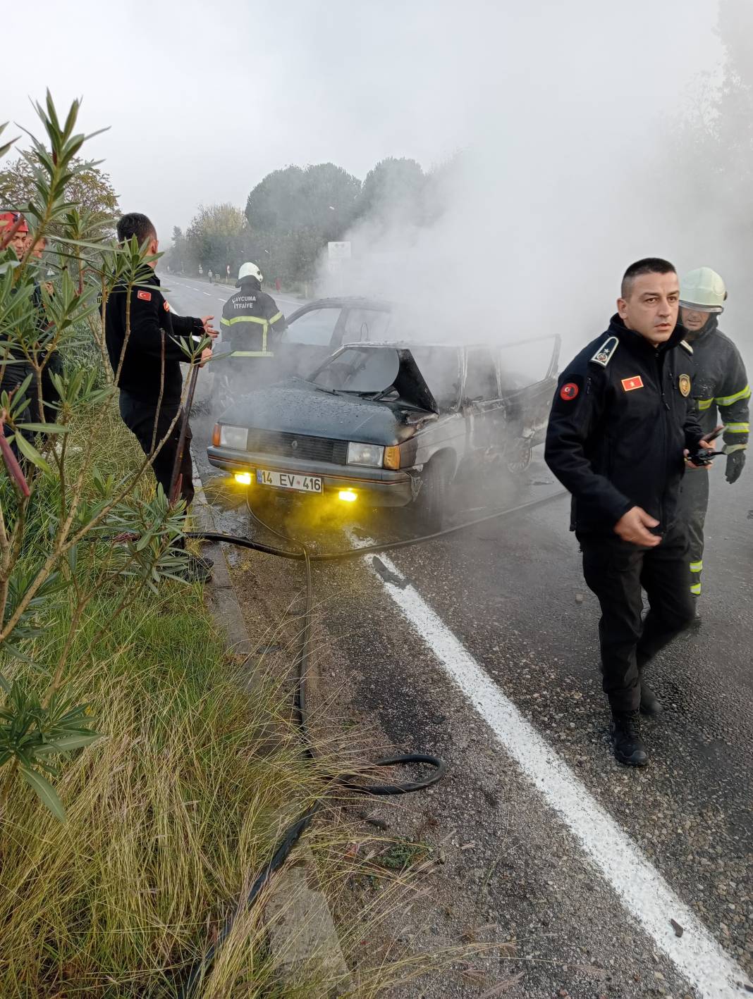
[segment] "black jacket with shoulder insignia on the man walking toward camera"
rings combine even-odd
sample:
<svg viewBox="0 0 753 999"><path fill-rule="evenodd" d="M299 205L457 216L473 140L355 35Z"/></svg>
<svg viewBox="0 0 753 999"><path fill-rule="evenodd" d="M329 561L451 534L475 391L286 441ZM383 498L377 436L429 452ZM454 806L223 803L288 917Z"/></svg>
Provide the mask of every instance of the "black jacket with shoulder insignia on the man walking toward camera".
<svg viewBox="0 0 753 999"><path fill-rule="evenodd" d="M703 436L683 334L654 348L614 316L560 377L545 459L573 496L571 529L611 533L633 506L656 517L657 533L674 521L684 449Z"/></svg>

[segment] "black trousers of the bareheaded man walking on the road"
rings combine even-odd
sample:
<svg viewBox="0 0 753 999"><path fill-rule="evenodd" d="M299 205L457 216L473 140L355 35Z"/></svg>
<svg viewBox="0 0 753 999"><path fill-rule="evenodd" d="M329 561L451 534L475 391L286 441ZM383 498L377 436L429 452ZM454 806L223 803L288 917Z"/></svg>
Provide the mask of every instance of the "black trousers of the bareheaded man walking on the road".
<svg viewBox="0 0 753 999"><path fill-rule="evenodd" d="M599 599L604 692L613 711L640 706L640 673L659 649L693 620L688 537L673 524L655 548L616 534L578 534L586 583ZM641 619L646 590L649 611Z"/></svg>

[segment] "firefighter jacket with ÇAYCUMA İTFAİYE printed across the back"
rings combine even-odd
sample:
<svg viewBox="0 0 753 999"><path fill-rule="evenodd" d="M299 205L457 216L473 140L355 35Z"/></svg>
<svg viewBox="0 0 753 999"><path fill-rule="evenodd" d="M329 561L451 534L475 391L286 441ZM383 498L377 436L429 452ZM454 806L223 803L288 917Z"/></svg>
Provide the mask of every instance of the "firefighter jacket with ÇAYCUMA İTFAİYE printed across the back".
<svg viewBox="0 0 753 999"><path fill-rule="evenodd" d="M271 295L255 278L240 283L222 307L222 344L234 358L273 358L274 348L288 325Z"/></svg>

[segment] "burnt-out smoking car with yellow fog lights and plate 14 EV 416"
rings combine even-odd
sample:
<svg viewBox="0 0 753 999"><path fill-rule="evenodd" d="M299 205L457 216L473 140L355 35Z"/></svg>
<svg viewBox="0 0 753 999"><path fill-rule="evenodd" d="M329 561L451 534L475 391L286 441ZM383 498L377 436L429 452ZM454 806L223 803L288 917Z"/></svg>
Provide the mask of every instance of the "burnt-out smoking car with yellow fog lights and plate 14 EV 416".
<svg viewBox="0 0 753 999"><path fill-rule="evenodd" d="M554 341L546 374L522 386L506 348L347 344L308 379L238 399L214 428L209 462L254 489L416 503L436 528L457 477L490 458L525 468L543 441L559 338L543 339Z"/></svg>

